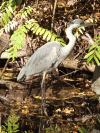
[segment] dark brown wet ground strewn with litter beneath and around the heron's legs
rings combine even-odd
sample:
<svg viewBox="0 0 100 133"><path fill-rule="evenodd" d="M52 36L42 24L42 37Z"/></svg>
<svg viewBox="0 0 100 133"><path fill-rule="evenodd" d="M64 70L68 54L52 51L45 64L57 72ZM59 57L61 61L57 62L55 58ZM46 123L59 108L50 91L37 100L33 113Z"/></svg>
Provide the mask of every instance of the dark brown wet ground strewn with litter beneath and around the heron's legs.
<svg viewBox="0 0 100 133"><path fill-rule="evenodd" d="M6 78L0 80L2 124L12 114L18 117L19 133L25 131L38 133L39 130L41 133L54 130L74 133L79 132L82 126L91 129L98 124L100 108L98 96L90 89L91 75L85 72L77 72L69 77L61 74L48 75L46 77L47 115L41 116L42 77L35 77L27 82L17 82L17 70L16 74L13 73L15 75L13 79L8 72L10 70L4 74Z"/></svg>

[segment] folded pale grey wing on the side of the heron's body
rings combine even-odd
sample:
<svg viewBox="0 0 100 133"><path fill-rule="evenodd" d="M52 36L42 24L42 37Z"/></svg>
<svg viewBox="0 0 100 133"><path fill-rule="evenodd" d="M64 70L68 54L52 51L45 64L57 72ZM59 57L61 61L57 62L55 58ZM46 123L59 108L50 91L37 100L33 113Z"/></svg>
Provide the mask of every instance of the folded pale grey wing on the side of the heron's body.
<svg viewBox="0 0 100 133"><path fill-rule="evenodd" d="M41 50L43 49L37 50L36 53L32 55L33 57L31 56L30 63L27 62L25 75L39 75L43 71L48 71L50 68L53 69L59 59L60 46L53 45L51 47L45 47L44 51Z"/></svg>

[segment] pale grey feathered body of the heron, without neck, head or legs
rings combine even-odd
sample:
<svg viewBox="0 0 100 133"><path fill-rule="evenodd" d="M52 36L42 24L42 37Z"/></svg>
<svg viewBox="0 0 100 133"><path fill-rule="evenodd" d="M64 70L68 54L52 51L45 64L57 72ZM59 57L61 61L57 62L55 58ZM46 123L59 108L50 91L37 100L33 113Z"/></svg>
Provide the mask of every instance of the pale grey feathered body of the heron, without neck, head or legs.
<svg viewBox="0 0 100 133"><path fill-rule="evenodd" d="M40 47L27 61L17 78L28 79L30 76L39 76L45 71L49 73L68 56L64 53L61 43L53 41Z"/></svg>

